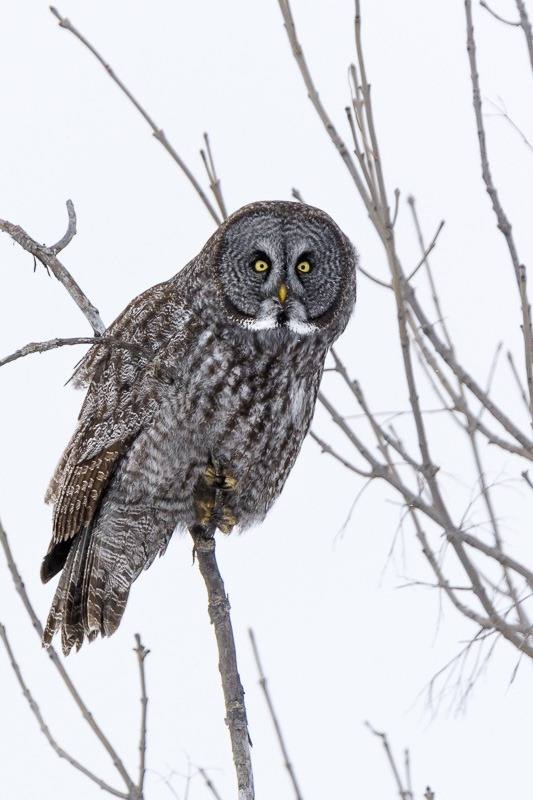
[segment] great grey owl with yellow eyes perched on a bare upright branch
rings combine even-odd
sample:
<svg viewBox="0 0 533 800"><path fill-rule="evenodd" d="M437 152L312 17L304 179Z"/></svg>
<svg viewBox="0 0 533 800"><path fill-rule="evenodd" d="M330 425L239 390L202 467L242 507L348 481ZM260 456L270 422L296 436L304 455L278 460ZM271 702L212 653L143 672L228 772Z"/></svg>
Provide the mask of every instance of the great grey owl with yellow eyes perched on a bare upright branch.
<svg viewBox="0 0 533 800"><path fill-rule="evenodd" d="M74 376L87 396L46 498L41 578L63 573L45 646L59 629L65 654L112 634L174 530L264 518L352 312L356 262L323 211L253 203L129 304L106 333L116 345L89 351Z"/></svg>

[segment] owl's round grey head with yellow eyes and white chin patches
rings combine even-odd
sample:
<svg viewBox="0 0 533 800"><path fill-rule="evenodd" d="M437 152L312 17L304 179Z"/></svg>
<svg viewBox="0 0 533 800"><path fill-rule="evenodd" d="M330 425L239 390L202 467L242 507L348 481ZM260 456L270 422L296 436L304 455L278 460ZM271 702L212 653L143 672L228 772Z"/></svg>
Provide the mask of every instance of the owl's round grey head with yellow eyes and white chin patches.
<svg viewBox="0 0 533 800"><path fill-rule="evenodd" d="M318 208L260 202L232 214L213 237L211 263L229 318L249 331L336 338L355 303L357 255Z"/></svg>

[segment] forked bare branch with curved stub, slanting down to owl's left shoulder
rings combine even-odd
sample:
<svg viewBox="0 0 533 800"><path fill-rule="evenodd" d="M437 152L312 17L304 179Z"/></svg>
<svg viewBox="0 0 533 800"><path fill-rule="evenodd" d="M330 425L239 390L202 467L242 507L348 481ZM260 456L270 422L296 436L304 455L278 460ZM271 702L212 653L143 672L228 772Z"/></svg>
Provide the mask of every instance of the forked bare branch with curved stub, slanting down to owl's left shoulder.
<svg viewBox="0 0 533 800"><path fill-rule="evenodd" d="M91 328L97 336L105 331L105 325L100 319L98 309L96 309L87 298L87 295L82 292L72 275L56 258L57 253L72 240L76 233L76 215L74 206L70 200L67 201L67 210L69 215L69 223L65 235L52 247L41 245L29 236L25 230L12 222L0 219L0 231L8 233L12 239L20 244L26 252L31 253L34 258L41 262L47 269L49 269L57 280L63 284L67 292L70 294L78 308L85 315Z"/></svg>

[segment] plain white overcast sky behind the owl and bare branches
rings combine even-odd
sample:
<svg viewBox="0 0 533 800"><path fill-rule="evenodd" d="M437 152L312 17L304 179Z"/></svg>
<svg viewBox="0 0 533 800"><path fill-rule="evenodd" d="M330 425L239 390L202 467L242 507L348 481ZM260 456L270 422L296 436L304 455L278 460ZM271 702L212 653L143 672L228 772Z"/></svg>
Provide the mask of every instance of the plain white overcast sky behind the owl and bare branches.
<svg viewBox="0 0 533 800"><path fill-rule="evenodd" d="M493 5L516 17L510 0ZM480 181L463 4L363 0L362 7L388 186L391 197L395 187L402 191L398 242L404 263L414 266L419 259L405 205L412 193L428 240L446 220L433 255L436 277L461 355L484 382L497 343L519 347L520 331L511 266ZM110 323L131 298L196 255L213 222L144 120L89 52L58 27L47 4L3 0L0 9L0 217L53 243L64 233L65 201L71 198L78 234L61 259ZM198 150L209 131L229 210L258 199L287 199L296 186L307 202L336 219L365 268L386 277L366 212L306 97L276 0L61 0L59 11L104 55L206 189ZM320 95L347 140L343 109L354 59L353 3L294 0L293 11ZM516 125L533 138L523 35L479 7L475 12L483 96L494 102L501 97ZM520 258L528 263L532 152L501 116L487 117L486 124L495 180ZM407 407L395 331L392 299L362 279L357 313L339 349L376 410ZM30 341L86 335L88 324L63 287L41 266L34 272L32 258L2 235L0 355ZM65 382L82 353L63 348L0 370L0 518L41 619L54 591L38 578L51 529L43 496L81 404L81 394ZM335 396L337 384L326 386ZM495 391L505 398L514 387L502 377ZM315 425L329 431L320 410ZM438 439L438 423L435 431L438 458L453 473L449 499L460 514L471 493L469 465L463 475L453 441ZM506 481L498 513L531 564L530 490L511 460L494 469ZM388 557L401 518L391 492L373 484L343 528L362 486L308 440L267 521L218 541L258 798L293 795L257 684L248 626L256 632L306 800L396 796L366 719L387 731L399 758L402 748L410 749L417 798L428 784L437 800L530 796L529 664L513 681L517 655L501 644L466 711L450 708L448 694L437 710L428 710L426 685L475 630L435 591L399 588L430 576L408 526ZM3 558L0 587L0 621L51 731L61 746L122 788L41 651ZM186 537L176 537L134 585L117 634L67 662L133 774L140 706L132 647L138 631L151 650L146 797L172 797L164 779L183 797L178 773L186 773L189 762L209 770L223 798L235 797L214 634ZM4 795L100 796L52 753L4 652L0 676ZM195 777L190 800L209 797Z"/></svg>

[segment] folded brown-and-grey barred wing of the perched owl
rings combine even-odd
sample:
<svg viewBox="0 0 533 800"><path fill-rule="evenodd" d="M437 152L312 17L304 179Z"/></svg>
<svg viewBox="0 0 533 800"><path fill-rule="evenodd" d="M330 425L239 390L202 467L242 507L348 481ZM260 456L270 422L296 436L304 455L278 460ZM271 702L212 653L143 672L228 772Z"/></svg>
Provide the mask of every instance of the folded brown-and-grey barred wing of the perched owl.
<svg viewBox="0 0 533 800"><path fill-rule="evenodd" d="M93 347L76 371L75 384L89 389L46 495L54 516L43 582L63 568L74 538L90 526L121 457L178 377L180 354L196 330L191 312L168 284L160 284L110 326L106 336L115 338L116 346Z"/></svg>

